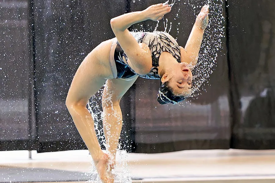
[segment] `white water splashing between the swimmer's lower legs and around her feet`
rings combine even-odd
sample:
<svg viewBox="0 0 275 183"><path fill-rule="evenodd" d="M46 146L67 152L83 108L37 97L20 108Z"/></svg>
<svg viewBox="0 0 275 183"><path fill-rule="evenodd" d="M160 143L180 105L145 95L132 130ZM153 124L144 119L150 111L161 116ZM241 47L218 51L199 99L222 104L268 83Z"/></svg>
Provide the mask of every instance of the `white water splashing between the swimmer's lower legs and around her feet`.
<svg viewBox="0 0 275 183"><path fill-rule="evenodd" d="M105 96L104 99L102 99L102 93L103 90L106 90L107 96ZM101 141L101 143L103 143L103 145L106 148L106 153L110 155L111 157L111 161L109 163L111 163L112 161L114 161L114 157L112 156L112 154L110 153L110 146L108 143L108 138L104 138L103 137L103 129L100 128L100 125L98 125L98 122L100 120L103 121L103 125L105 127L105 132L107 134L104 134L105 137L106 135L108 135L109 138L112 138L113 135L115 134L111 134L111 124L110 123L104 123L105 120L117 120L117 124L122 123L122 118L121 115L119 113L116 112L114 106L113 106L113 102L112 102L112 96L113 96L113 91L108 89L108 85L105 84L104 85L104 89L101 89L100 91L97 92L96 95L94 95L91 99L90 103L93 103L94 100L96 101L101 101L103 103L107 103L107 107L110 108L113 113L107 113L105 112L105 110L101 110L101 108L97 105L94 108L91 106L91 104L88 104L88 110L90 111L90 113L93 115L94 118L94 123L95 123L95 129L97 131L97 137L99 139L99 141ZM101 115L99 115L101 114ZM100 118L99 118L100 116ZM115 133L114 131L112 131L112 133ZM100 135L101 134L101 135ZM126 142L127 143L127 142ZM102 145L102 144L101 144ZM115 183L131 183L131 177L130 177L130 169L128 167L128 163L126 161L127 158L127 153L124 150L119 150L122 149L121 145L118 145L118 149L116 152L116 165L114 167L114 169L112 170L112 174L115 177ZM109 166L108 166L109 167ZM108 170L109 171L109 170ZM94 162L92 161L92 165L90 167L90 171L87 173L87 175L90 177L90 181L89 182L97 182L97 183L101 183L100 177L97 174L97 169L94 166Z"/></svg>

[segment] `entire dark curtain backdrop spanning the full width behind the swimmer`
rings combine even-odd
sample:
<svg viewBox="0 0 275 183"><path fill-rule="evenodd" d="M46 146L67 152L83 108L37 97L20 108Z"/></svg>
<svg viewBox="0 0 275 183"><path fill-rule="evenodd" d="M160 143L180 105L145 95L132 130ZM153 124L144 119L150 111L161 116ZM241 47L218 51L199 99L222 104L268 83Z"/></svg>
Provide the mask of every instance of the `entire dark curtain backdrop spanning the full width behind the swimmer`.
<svg viewBox="0 0 275 183"><path fill-rule="evenodd" d="M111 18L160 2L0 2L0 150L86 149L65 106L78 66L99 43L114 37ZM170 34L179 45L185 46L194 12L205 3L177 1L164 17L172 23ZM207 92L202 90L190 102L160 105L156 101L160 81L138 78L120 103L120 148L138 153L275 149L273 7L273 0L222 3L222 50L204 86ZM156 22L145 21L130 30L152 31L155 27ZM163 21L157 30L164 30ZM204 37L206 44L208 39ZM101 91L87 106L100 129L98 137L103 134ZM99 140L104 149L104 139Z"/></svg>

